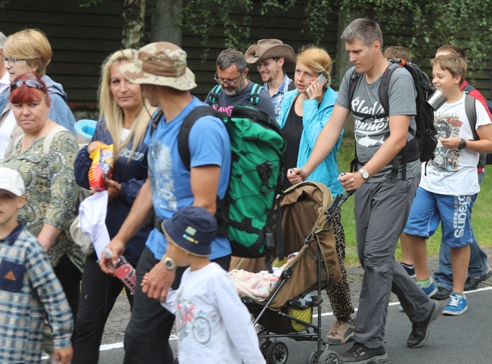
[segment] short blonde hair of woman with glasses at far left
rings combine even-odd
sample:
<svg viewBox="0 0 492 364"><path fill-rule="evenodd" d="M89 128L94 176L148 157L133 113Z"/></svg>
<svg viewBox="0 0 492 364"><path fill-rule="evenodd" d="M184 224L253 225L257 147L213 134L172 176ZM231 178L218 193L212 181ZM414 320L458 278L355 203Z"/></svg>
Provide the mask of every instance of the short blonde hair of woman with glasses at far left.
<svg viewBox="0 0 492 364"><path fill-rule="evenodd" d="M46 74L53 52L46 35L39 29L25 29L11 34L4 44L4 55L26 59L39 76Z"/></svg>

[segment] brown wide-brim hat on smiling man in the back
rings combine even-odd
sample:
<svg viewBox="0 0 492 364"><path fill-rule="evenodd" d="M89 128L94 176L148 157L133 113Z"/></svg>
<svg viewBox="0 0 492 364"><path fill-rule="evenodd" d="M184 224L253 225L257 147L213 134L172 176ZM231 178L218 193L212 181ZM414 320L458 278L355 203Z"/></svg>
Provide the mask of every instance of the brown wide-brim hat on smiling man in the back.
<svg viewBox="0 0 492 364"><path fill-rule="evenodd" d="M284 66L294 63L296 52L290 45L282 43L279 39L260 39L253 44L245 53L246 62L262 62L268 58L283 57Z"/></svg>

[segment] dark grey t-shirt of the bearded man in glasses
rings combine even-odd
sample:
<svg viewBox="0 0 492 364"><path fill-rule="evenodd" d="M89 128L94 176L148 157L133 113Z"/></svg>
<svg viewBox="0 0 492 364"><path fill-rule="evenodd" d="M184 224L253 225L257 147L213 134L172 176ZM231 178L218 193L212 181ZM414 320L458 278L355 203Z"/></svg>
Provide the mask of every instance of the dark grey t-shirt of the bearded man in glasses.
<svg viewBox="0 0 492 364"><path fill-rule="evenodd" d="M231 111L234 105L237 104L247 104L251 105L250 96L251 89L254 83L248 80L248 83L245 88L242 89L241 93L237 96L228 96L224 90L220 90L219 92L219 108L212 105L212 107L216 110L227 113L227 115L231 115ZM208 105L208 99L210 97L210 92L207 94L207 99L205 99L205 104ZM273 102L270 94L264 89L261 89L259 94L259 100L257 107L263 111L265 111L269 116L271 116L275 120L275 108L273 107Z"/></svg>

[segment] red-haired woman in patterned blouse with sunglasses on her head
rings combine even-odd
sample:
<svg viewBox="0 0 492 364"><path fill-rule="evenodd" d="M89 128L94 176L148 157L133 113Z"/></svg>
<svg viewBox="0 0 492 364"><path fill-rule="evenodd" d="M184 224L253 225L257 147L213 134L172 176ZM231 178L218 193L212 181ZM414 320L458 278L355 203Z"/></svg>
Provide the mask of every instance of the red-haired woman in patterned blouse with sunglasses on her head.
<svg viewBox="0 0 492 364"><path fill-rule="evenodd" d="M12 153L2 164L18 171L25 181L27 202L19 211L19 220L48 251L76 316L83 253L71 239L69 228L76 211L78 146L70 132L48 117L48 87L38 75L25 73L15 78L10 101L24 134L14 141Z"/></svg>

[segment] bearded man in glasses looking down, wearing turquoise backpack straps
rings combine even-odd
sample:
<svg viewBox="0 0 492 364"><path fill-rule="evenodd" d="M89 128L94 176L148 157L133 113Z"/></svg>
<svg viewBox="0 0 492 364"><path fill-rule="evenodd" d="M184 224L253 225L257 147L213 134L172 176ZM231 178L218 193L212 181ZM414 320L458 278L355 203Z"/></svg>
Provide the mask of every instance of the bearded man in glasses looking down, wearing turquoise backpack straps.
<svg viewBox="0 0 492 364"><path fill-rule="evenodd" d="M275 119L270 94L263 86L247 80L245 55L235 48L223 50L217 57L217 71L214 80L218 83L207 95L205 104L217 111L231 115L234 105L249 104L257 106Z"/></svg>

